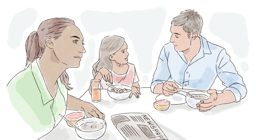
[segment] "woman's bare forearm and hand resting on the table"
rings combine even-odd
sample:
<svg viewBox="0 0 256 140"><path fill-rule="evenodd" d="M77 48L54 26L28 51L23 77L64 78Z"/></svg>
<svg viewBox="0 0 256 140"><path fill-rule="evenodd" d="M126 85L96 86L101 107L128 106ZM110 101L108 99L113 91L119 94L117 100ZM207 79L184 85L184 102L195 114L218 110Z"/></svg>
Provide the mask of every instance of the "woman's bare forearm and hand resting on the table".
<svg viewBox="0 0 256 140"><path fill-rule="evenodd" d="M94 105L87 103L74 96L68 95L67 109L84 111L87 117L97 117L104 119L105 115L101 113Z"/></svg>

